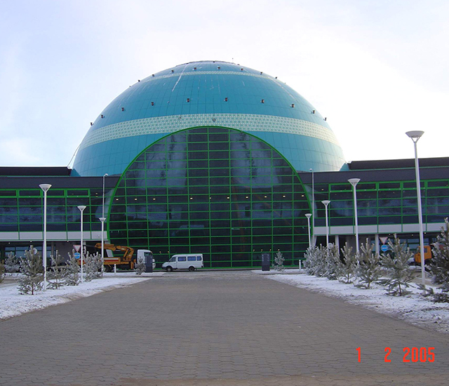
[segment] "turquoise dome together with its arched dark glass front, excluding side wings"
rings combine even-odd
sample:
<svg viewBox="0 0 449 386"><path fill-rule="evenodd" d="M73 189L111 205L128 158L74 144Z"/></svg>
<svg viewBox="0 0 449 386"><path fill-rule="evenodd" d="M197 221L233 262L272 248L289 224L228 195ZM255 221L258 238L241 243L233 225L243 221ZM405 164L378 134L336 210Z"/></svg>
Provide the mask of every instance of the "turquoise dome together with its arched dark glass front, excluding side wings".
<svg viewBox="0 0 449 386"><path fill-rule="evenodd" d="M253 267L307 248L309 203L297 171L337 171L326 119L273 76L190 62L121 93L81 142L72 175L121 175L109 199L113 244L156 260L203 253L206 267Z"/></svg>

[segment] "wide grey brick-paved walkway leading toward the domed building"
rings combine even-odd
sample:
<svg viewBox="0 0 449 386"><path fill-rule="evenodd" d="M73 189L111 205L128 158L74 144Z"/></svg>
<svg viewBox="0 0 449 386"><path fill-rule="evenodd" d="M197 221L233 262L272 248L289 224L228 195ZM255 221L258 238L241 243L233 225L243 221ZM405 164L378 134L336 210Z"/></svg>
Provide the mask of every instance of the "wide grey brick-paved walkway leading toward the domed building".
<svg viewBox="0 0 449 386"><path fill-rule="evenodd" d="M0 321L0 337L2 386L449 384L449 335L249 272L164 274Z"/></svg>

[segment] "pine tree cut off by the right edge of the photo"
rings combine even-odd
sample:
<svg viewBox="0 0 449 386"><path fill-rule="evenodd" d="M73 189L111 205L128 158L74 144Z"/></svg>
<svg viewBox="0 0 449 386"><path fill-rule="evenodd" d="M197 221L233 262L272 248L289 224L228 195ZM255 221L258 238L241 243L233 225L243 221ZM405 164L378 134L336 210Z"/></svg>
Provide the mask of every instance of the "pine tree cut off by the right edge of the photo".
<svg viewBox="0 0 449 386"><path fill-rule="evenodd" d="M430 274L434 284L438 285L441 293L434 295L434 300L438 302L449 302L449 221L444 219L445 227L441 228L441 233L436 239L432 248L433 258L429 265Z"/></svg>

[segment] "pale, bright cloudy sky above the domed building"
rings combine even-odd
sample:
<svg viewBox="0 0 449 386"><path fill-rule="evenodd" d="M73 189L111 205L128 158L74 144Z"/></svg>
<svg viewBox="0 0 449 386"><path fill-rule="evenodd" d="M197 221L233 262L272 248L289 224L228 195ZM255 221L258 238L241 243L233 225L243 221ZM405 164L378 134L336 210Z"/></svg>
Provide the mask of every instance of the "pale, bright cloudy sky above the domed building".
<svg viewBox="0 0 449 386"><path fill-rule="evenodd" d="M0 0L0 166L67 166L150 74L225 60L323 115L347 161L449 157L447 0Z"/></svg>

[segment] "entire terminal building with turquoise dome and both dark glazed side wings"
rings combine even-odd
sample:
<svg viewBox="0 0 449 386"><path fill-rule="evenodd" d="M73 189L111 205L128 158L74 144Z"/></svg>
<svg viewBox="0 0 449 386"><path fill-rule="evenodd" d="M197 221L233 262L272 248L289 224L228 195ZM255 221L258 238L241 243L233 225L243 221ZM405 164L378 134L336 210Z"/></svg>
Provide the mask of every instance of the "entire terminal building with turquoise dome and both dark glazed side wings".
<svg viewBox="0 0 449 386"><path fill-rule="evenodd" d="M313 171L313 173L311 173ZM420 160L425 244L449 215L449 159ZM297 265L311 232L354 244L397 233L418 244L414 160L347 164L326 117L279 79L234 63L190 62L138 81L92 122L73 167L0 168L0 252L48 253L81 239L150 249L156 262L203 253L206 267ZM104 184L104 185L103 185ZM105 206L103 207L103 197Z"/></svg>

